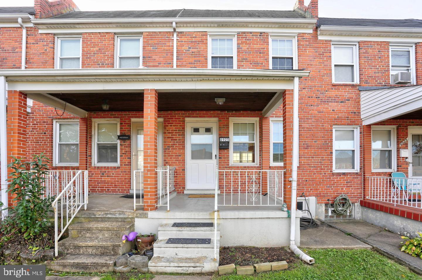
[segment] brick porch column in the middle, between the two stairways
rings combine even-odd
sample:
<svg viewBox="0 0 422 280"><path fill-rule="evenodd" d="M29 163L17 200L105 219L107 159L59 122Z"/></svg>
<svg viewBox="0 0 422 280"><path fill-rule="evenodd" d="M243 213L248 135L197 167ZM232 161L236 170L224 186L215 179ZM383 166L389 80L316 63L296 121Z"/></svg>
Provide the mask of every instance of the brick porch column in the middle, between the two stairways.
<svg viewBox="0 0 422 280"><path fill-rule="evenodd" d="M158 92L143 92L143 210L157 210Z"/></svg>

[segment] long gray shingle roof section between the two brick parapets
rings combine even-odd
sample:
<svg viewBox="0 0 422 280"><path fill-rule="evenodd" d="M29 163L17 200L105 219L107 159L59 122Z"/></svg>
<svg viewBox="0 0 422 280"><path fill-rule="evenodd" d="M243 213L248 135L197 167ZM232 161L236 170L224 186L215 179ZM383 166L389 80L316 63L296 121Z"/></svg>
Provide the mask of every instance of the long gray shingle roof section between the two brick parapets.
<svg viewBox="0 0 422 280"><path fill-rule="evenodd" d="M190 17L231 17L231 18L280 18L304 19L295 11L246 11L246 10L154 10L154 11L73 11L50 19L108 19L108 18L190 18Z"/></svg>

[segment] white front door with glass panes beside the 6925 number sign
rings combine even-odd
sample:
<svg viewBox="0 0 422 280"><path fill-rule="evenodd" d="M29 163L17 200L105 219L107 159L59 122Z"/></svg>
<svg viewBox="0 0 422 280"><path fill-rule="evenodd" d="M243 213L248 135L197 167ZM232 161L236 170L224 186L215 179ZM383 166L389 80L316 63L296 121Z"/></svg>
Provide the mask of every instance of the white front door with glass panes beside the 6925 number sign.
<svg viewBox="0 0 422 280"><path fill-rule="evenodd" d="M186 124L186 188L214 189L217 166L217 124Z"/></svg>

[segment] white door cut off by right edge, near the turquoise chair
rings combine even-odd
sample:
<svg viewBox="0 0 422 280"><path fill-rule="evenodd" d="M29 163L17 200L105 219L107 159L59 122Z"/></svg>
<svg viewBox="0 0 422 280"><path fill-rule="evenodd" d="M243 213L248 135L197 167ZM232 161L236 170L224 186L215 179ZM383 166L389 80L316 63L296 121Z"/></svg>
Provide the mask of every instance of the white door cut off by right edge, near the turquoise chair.
<svg viewBox="0 0 422 280"><path fill-rule="evenodd" d="M422 177L422 128L408 127L408 131L408 177Z"/></svg>

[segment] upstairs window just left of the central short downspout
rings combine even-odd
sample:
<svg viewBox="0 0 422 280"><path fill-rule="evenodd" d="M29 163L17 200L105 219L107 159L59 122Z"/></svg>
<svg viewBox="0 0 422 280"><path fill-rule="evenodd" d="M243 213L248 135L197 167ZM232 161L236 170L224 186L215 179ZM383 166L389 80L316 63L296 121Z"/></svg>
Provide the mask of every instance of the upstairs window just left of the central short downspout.
<svg viewBox="0 0 422 280"><path fill-rule="evenodd" d="M117 37L118 68L140 68L142 66L142 38Z"/></svg>

